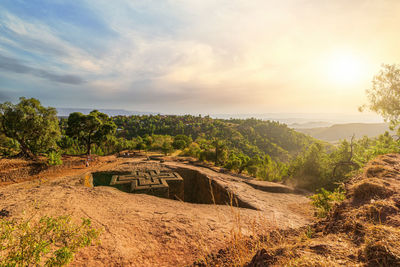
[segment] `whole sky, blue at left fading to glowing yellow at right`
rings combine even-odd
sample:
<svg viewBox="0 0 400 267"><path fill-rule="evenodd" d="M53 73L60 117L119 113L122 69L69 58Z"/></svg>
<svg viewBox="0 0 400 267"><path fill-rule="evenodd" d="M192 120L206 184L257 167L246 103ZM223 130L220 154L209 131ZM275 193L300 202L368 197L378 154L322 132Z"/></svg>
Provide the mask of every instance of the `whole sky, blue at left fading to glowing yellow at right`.
<svg viewBox="0 0 400 267"><path fill-rule="evenodd" d="M400 63L398 0L2 0L0 102L357 113Z"/></svg>

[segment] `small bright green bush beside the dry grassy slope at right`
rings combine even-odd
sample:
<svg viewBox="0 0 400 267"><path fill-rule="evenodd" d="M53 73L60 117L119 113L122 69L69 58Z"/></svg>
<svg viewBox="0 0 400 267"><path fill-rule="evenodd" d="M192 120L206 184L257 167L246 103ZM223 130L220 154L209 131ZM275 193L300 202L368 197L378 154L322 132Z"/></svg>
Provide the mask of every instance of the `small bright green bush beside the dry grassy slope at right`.
<svg viewBox="0 0 400 267"><path fill-rule="evenodd" d="M343 187L337 187L333 192L321 188L317 194L312 195L312 205L317 209L316 216L324 218L332 210L336 203L342 202L346 198Z"/></svg>

